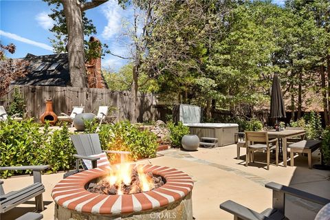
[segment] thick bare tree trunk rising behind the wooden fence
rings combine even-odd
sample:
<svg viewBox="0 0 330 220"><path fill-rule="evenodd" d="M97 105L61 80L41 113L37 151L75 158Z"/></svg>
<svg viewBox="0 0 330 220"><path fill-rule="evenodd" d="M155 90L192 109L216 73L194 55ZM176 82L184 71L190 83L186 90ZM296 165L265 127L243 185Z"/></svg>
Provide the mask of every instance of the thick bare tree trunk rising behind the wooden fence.
<svg viewBox="0 0 330 220"><path fill-rule="evenodd" d="M87 87L83 17L80 5L75 0L63 0L67 23L69 70L72 87Z"/></svg>

